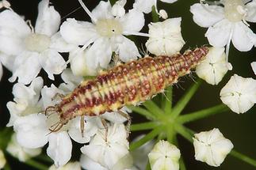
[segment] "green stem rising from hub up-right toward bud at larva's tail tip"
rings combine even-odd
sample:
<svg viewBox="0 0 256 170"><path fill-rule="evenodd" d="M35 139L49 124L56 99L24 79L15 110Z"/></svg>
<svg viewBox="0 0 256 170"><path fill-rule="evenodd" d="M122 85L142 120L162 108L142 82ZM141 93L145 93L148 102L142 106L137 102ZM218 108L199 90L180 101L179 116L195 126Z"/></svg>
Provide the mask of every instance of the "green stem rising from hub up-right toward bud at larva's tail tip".
<svg viewBox="0 0 256 170"><path fill-rule="evenodd" d="M189 100L197 92L198 87L201 85L201 79L197 80L197 83L194 83L190 89L182 96L181 100L178 101L178 104L173 108L172 118L175 119L178 115L181 114L181 111L185 108L186 104L189 103Z"/></svg>

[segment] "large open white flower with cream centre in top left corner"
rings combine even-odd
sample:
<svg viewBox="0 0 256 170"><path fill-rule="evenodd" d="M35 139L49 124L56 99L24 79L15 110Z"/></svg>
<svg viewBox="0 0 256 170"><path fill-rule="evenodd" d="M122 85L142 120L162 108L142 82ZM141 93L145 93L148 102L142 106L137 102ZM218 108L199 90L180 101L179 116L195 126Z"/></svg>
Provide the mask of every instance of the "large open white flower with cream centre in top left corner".
<svg viewBox="0 0 256 170"><path fill-rule="evenodd" d="M29 84L41 68L54 80L53 74L60 74L66 68L66 62L58 51L70 51L73 47L63 43L57 32L59 13L49 6L48 0L41 1L38 9L35 30L10 9L0 13L0 51L17 56L10 81L18 77L19 82Z"/></svg>

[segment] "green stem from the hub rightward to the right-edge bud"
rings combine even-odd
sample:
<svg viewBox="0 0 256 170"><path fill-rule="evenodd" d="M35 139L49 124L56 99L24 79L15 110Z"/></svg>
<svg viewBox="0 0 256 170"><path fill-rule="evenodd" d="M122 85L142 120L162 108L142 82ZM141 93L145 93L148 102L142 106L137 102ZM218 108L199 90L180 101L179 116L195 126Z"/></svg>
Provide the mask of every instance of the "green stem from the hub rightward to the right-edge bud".
<svg viewBox="0 0 256 170"><path fill-rule="evenodd" d="M222 113L222 112L228 111L228 110L229 109L227 108L226 105L219 104L219 105L216 105L212 108L206 108L206 109L201 110L201 111L195 111L195 112L192 112L192 113L189 113L189 114L186 114L186 115L181 115L181 116L178 117L177 121L181 124L189 123L189 122L192 122L194 120L202 119L202 118L207 117L209 115L215 115L217 113Z"/></svg>

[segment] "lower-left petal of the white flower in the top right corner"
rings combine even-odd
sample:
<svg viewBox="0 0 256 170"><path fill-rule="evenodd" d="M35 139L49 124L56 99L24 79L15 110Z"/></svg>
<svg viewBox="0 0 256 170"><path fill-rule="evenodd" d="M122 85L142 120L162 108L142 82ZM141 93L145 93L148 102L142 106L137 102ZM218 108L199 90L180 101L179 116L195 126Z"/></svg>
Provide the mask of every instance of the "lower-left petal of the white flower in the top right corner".
<svg viewBox="0 0 256 170"><path fill-rule="evenodd" d="M208 28L205 36L208 38L209 43L215 47L224 47L228 43L231 35L232 23L226 19L216 23Z"/></svg>

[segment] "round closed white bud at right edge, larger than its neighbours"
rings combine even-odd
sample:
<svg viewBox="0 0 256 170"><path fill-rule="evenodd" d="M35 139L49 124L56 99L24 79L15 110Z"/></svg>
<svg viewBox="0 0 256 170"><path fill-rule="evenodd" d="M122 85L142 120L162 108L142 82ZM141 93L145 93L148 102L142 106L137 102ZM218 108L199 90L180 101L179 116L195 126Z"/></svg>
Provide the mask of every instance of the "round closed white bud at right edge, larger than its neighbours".
<svg viewBox="0 0 256 170"><path fill-rule="evenodd" d="M235 74L221 89L220 99L236 113L248 111L256 103L256 80Z"/></svg>

